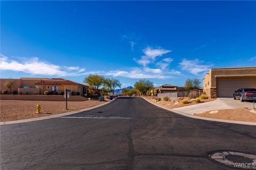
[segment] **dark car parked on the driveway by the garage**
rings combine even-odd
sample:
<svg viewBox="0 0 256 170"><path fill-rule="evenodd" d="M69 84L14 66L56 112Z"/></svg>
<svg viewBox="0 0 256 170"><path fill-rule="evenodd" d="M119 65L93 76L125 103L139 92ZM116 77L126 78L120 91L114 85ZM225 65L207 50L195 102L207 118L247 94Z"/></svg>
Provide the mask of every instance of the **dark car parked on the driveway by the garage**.
<svg viewBox="0 0 256 170"><path fill-rule="evenodd" d="M244 101L244 100L256 101L256 89L254 88L238 89L234 92L233 97L234 99L239 99L240 101Z"/></svg>

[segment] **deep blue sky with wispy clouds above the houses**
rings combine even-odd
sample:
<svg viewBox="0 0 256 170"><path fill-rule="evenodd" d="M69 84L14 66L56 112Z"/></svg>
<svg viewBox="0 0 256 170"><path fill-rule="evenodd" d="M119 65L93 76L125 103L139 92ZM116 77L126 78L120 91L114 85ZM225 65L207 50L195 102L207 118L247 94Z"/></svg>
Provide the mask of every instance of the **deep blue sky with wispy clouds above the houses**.
<svg viewBox="0 0 256 170"><path fill-rule="evenodd" d="M255 1L1 1L1 78L90 73L183 86L256 66Z"/></svg>

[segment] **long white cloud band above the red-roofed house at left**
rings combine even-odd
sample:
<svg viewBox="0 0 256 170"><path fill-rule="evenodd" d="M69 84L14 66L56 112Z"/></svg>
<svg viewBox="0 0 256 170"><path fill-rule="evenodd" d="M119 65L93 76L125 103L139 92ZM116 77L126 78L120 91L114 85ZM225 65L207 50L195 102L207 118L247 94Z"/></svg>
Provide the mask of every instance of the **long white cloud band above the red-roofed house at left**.
<svg viewBox="0 0 256 170"><path fill-rule="evenodd" d="M1 70L20 71L30 74L51 75L51 76L75 76L83 74L85 69L78 66L59 66L44 61L40 61L38 57L21 58L21 60L10 60L9 57L1 55Z"/></svg>

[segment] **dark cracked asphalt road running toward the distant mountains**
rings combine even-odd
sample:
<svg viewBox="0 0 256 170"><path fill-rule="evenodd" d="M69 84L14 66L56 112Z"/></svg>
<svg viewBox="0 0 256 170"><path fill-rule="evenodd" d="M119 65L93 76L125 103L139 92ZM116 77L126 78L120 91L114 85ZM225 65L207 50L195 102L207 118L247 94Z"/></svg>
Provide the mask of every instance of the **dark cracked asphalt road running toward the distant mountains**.
<svg viewBox="0 0 256 170"><path fill-rule="evenodd" d="M141 98L0 128L1 169L230 169L208 155L256 154L256 126L197 120Z"/></svg>

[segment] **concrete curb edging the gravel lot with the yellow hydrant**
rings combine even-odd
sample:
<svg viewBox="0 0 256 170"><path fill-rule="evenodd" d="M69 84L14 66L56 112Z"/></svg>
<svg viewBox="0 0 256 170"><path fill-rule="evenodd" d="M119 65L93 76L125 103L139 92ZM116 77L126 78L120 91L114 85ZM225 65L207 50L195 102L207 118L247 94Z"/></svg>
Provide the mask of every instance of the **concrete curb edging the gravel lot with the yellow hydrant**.
<svg viewBox="0 0 256 170"><path fill-rule="evenodd" d="M111 100L114 101L115 99ZM103 105L107 105L109 103L111 103L111 101L108 101L106 103L97 105L97 106L93 106L93 107L88 107L88 108L84 108L78 111L73 111L73 112L67 112L67 113L61 113L58 115L52 115L52 116L45 116L45 117L38 117L38 118L29 118L29 119L25 119L25 120L20 120L20 121L10 121L10 122L0 122L0 125L5 125L5 124L14 124L14 123L25 123L25 122L32 122L32 121L40 121L40 120L45 120L48 118L55 118L55 117L61 117L61 116L66 116L66 115L71 115L71 114L75 114L75 113L79 113L79 112L84 112L84 111L89 111L91 109L103 106Z"/></svg>

